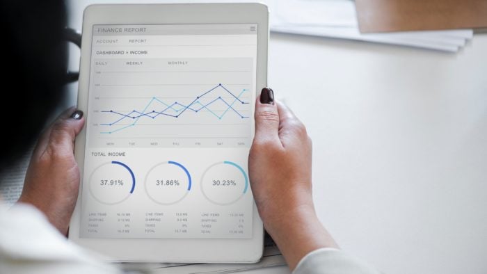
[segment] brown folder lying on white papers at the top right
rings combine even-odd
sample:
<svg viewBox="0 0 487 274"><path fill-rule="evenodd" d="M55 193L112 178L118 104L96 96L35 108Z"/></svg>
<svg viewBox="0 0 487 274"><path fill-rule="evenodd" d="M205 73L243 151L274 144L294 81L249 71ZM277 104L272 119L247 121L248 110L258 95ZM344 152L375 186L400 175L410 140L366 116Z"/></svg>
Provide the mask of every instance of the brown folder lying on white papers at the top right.
<svg viewBox="0 0 487 274"><path fill-rule="evenodd" d="M360 32L487 28L487 0L356 0Z"/></svg>

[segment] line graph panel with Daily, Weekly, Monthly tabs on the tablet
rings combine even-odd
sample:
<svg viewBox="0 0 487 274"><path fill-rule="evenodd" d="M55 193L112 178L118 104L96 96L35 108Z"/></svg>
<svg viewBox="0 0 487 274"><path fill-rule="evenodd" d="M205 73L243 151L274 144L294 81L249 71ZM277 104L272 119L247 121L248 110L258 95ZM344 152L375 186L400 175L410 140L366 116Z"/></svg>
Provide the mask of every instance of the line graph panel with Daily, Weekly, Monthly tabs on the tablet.
<svg viewBox="0 0 487 274"><path fill-rule="evenodd" d="M94 147L248 147L252 58L99 58L90 78Z"/></svg>

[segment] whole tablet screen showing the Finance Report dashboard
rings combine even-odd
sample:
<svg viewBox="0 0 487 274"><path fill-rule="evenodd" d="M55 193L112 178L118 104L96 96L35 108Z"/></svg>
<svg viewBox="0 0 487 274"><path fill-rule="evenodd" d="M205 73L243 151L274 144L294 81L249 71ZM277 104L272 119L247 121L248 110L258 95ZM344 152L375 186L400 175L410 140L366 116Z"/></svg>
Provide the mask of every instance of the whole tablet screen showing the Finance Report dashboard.
<svg viewBox="0 0 487 274"><path fill-rule="evenodd" d="M257 24L93 26L83 238L250 239Z"/></svg>

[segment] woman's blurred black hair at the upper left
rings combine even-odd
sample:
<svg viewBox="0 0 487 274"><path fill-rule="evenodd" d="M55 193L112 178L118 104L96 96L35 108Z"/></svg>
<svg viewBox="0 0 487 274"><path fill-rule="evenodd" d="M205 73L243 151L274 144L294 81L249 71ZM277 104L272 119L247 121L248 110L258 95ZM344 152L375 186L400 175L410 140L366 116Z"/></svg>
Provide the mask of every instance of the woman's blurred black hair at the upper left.
<svg viewBox="0 0 487 274"><path fill-rule="evenodd" d="M6 57L0 73L2 170L26 152L63 98L67 44L63 1L11 0L0 5Z"/></svg>

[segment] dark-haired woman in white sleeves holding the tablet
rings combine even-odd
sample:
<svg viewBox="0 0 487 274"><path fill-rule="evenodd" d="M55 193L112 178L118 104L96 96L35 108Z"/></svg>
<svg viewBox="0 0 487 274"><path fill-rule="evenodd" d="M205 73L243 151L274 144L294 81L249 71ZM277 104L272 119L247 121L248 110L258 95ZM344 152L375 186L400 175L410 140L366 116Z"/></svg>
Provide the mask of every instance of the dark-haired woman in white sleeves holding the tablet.
<svg viewBox="0 0 487 274"><path fill-rule="evenodd" d="M37 140L19 202L0 215L1 273L118 273L66 241L79 191L74 139L83 113L65 111L39 135L60 102L65 72L61 1L8 1L2 4L8 70L3 83L19 83L10 92L22 107L5 128L1 167L15 162ZM9 95L9 96L10 96ZM340 251L319 222L312 202L312 145L303 124L264 88L255 102L255 139L248 161L255 202L267 232L294 273L377 273ZM89 271L89 272L88 272Z"/></svg>

